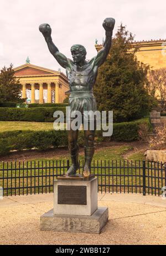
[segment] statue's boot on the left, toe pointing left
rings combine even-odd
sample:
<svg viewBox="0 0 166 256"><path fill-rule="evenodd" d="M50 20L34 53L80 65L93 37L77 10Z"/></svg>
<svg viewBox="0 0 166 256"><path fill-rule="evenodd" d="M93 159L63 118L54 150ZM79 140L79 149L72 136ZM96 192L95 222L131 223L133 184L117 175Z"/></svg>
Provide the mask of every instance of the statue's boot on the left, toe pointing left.
<svg viewBox="0 0 166 256"><path fill-rule="evenodd" d="M79 145L76 144L76 146L70 150L71 155L71 166L69 170L66 172L66 176L76 175L77 169L79 166Z"/></svg>

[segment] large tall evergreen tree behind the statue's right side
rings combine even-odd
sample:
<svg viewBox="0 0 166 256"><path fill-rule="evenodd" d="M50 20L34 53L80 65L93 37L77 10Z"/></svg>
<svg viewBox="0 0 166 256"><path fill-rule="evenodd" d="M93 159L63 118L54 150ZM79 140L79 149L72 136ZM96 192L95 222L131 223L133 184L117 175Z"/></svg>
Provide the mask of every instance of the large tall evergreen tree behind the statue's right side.
<svg viewBox="0 0 166 256"><path fill-rule="evenodd" d="M98 110L113 110L113 121L139 119L147 114L152 98L144 85L148 65L138 62L131 50L132 33L121 24L106 62L98 70L94 93Z"/></svg>

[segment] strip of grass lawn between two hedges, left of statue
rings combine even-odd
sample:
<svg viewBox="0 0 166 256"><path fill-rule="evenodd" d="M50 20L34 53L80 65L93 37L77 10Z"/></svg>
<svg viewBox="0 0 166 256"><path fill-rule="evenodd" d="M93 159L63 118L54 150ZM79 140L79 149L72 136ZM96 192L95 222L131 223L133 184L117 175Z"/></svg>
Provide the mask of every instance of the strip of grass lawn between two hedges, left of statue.
<svg viewBox="0 0 166 256"><path fill-rule="evenodd" d="M15 130L52 130L53 122L0 121L0 132Z"/></svg>

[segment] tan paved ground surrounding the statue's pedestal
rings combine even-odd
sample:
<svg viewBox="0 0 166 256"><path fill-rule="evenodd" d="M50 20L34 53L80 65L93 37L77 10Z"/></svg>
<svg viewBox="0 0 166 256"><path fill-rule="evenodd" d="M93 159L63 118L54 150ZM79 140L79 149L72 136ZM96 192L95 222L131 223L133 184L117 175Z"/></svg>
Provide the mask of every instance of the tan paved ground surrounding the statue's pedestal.
<svg viewBox="0 0 166 256"><path fill-rule="evenodd" d="M166 244L166 199L141 194L98 194L109 208L101 234L40 231L40 216L53 208L53 193L0 200L0 244Z"/></svg>

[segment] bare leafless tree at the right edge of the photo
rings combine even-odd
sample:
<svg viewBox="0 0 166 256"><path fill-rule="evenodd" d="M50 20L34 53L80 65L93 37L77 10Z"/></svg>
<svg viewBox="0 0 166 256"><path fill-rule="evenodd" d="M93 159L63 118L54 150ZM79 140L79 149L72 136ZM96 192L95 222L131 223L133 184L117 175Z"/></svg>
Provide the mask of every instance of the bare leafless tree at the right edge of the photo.
<svg viewBox="0 0 166 256"><path fill-rule="evenodd" d="M149 71L148 80L148 93L157 98L162 113L166 110L166 68Z"/></svg>

